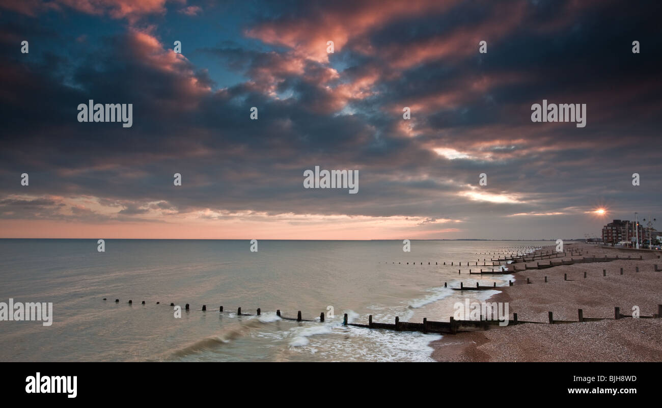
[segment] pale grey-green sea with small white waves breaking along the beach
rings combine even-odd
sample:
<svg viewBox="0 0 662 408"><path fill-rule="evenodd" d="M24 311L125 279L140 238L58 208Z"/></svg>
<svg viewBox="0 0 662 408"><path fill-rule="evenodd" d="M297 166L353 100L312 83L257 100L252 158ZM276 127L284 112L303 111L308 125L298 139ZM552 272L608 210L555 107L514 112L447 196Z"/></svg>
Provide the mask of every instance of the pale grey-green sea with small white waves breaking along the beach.
<svg viewBox="0 0 662 408"><path fill-rule="evenodd" d="M0 321L0 361L431 361L439 335L344 327L343 314L448 321L455 301L496 292L444 282L507 285L512 276L468 270L484 252L549 244L412 240L403 252L401 240L260 240L250 252L248 240L105 240L97 252L97 240L0 239L0 301L52 302L54 315L50 327ZM191 310L176 319L171 302ZM275 315L318 320L329 306L324 323Z"/></svg>

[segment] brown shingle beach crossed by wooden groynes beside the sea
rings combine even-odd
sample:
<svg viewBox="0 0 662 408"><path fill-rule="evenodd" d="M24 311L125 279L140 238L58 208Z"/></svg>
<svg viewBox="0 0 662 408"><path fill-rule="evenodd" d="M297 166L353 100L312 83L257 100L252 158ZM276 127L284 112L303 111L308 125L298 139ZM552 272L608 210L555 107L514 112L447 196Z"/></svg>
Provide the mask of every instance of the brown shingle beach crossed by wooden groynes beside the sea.
<svg viewBox="0 0 662 408"><path fill-rule="evenodd" d="M639 307L641 316L657 313L657 305L662 304L662 272L654 272L653 264L662 266L662 259L658 258L661 253L592 244L568 246L582 250L584 256L597 258L636 252L643 260L559 265L515 272L513 285L504 287L486 302L507 302L511 321L512 313L518 313L520 321L546 324L526 323L445 335L441 340L430 342L434 349L431 357L438 362L662 361L662 319L613 319L614 306L621 308L622 315L632 315L634 305ZM536 262L529 264L535 266ZM640 272L636 272L636 267ZM620 268L623 268L623 275L620 275ZM602 276L602 270L607 271L606 277ZM584 278L585 272L587 278ZM567 281L564 281L564 274L567 274ZM530 278L531 284L526 283L526 278ZM611 319L548 323L548 311L553 312L555 320L577 321L577 309L583 309L584 317Z"/></svg>

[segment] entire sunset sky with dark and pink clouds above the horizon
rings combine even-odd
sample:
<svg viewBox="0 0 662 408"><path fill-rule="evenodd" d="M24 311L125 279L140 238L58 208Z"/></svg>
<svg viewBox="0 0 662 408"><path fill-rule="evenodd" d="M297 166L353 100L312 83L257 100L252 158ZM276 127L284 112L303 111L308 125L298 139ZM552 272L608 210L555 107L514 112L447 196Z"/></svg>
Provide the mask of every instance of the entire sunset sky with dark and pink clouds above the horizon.
<svg viewBox="0 0 662 408"><path fill-rule="evenodd" d="M0 0L0 237L557 239L660 216L659 7ZM89 99L132 126L79 122ZM586 104L585 127L532 121L543 100ZM357 193L305 188L315 166Z"/></svg>

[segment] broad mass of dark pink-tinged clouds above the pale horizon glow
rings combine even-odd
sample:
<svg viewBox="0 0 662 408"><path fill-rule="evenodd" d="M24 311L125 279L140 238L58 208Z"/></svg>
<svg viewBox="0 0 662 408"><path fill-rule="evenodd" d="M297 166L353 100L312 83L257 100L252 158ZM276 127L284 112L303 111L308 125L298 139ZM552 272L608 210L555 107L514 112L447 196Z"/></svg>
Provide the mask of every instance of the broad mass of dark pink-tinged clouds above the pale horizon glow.
<svg viewBox="0 0 662 408"><path fill-rule="evenodd" d="M48 200L18 197L22 172L30 195L97 197L117 207L117 219L198 209L429 219L547 213L596 197L618 201L636 171L647 175L636 199L659 203L655 13L613 2L414 3L405 15L377 13L374 24L355 2L294 2L280 13L271 5L247 33L272 48L214 41L197 50L248 78L222 89L205 67L169 52L153 27L130 25L66 53L32 40L28 58L17 39L56 28L38 13L3 20L1 216L17 217L9 207L24 202L64 217ZM343 15L346 31L333 33L346 41L330 63L320 61L312 41L319 26L307 21L332 31ZM478 54L479 38L487 54ZM630 52L632 40L641 54ZM133 126L78 123L76 107L88 99L132 103ZM587 103L587 127L532 123L531 104L542 99ZM464 156L450 160L434 148ZM360 193L303 189L303 171L316 165L359 170ZM489 183L479 191L514 202L463 195L483 172ZM181 187L173 188L175 173ZM78 207L70 217L109 219Z"/></svg>

